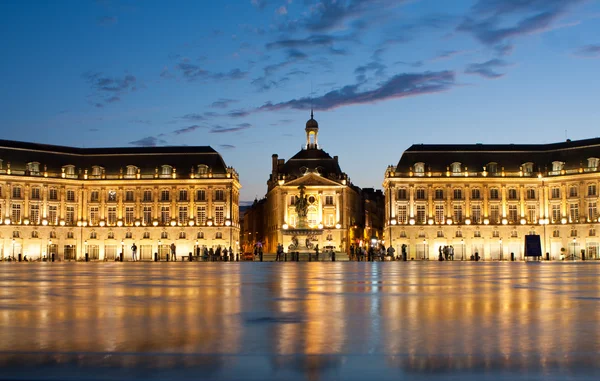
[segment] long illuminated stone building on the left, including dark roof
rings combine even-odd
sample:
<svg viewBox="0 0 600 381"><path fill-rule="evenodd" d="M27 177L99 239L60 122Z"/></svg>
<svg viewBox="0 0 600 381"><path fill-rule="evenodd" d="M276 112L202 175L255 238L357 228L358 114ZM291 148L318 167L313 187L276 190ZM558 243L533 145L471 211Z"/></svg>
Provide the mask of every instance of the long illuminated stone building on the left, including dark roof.
<svg viewBox="0 0 600 381"><path fill-rule="evenodd" d="M237 252L236 171L211 147L72 148L0 141L0 253L162 259Z"/></svg>

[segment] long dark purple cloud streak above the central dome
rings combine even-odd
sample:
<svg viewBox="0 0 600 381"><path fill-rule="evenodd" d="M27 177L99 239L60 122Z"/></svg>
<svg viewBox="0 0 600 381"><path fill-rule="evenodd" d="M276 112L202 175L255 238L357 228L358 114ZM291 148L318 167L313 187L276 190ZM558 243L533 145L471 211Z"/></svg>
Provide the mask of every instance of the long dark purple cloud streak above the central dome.
<svg viewBox="0 0 600 381"><path fill-rule="evenodd" d="M401 99L423 94L448 91L455 85L453 71L397 74L371 90L361 90L360 84L347 85L316 98L292 99L280 103L266 103L257 111L283 109L308 110L311 106L319 110L370 104L390 99Z"/></svg>

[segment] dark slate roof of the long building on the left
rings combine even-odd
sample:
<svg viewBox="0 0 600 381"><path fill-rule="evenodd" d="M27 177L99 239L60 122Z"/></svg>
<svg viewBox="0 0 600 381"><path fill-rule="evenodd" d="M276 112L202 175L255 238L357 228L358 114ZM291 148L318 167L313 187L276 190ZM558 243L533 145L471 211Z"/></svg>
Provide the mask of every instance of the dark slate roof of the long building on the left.
<svg viewBox="0 0 600 381"><path fill-rule="evenodd" d="M210 146L78 148L0 140L0 159L3 163L10 162L14 170L25 170L27 163L38 162L40 170L46 166L51 172L74 165L83 169L100 166L106 173L118 173L133 165L144 174L170 165L185 175L192 167L196 171L198 165L207 165L214 174L227 173L223 158Z"/></svg>

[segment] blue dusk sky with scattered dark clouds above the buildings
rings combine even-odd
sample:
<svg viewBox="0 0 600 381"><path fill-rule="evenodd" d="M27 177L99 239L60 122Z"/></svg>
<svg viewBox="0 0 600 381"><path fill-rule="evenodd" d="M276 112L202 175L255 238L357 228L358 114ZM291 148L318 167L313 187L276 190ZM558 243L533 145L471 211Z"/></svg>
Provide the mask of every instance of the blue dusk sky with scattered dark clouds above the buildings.
<svg viewBox="0 0 600 381"><path fill-rule="evenodd" d="M3 0L0 20L0 138L210 145L243 201L311 106L360 187L412 144L600 135L599 1Z"/></svg>

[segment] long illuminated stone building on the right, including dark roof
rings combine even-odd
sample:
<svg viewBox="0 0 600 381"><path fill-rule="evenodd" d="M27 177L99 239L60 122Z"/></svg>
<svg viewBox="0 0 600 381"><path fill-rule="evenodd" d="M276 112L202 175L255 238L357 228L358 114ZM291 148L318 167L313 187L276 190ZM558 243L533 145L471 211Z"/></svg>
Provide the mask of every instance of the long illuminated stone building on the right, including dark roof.
<svg viewBox="0 0 600 381"><path fill-rule="evenodd" d="M600 139L413 145L385 172L386 239L409 260L507 260L538 234L551 258L600 259L599 158Z"/></svg>

